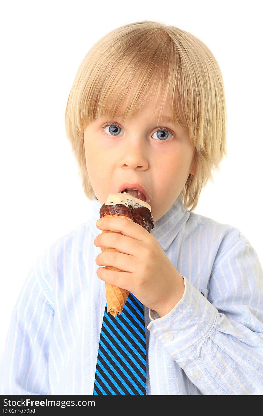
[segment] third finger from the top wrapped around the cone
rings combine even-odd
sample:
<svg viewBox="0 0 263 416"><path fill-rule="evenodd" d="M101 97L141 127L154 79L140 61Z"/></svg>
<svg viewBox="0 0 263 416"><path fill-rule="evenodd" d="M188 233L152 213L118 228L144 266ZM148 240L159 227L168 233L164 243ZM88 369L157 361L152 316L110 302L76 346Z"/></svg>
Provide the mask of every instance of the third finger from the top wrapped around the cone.
<svg viewBox="0 0 263 416"><path fill-rule="evenodd" d="M98 266L111 266L123 272L134 273L136 269L134 257L117 251L104 251L95 259Z"/></svg>

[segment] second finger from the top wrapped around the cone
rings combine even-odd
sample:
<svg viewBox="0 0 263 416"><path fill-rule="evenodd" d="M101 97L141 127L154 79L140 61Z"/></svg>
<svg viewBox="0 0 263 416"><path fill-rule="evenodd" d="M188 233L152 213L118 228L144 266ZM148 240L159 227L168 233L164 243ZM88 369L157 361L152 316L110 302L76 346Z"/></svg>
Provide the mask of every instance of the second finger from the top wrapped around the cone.
<svg viewBox="0 0 263 416"><path fill-rule="evenodd" d="M120 253L135 256L143 250L145 243L143 244L141 241L126 237L117 232L106 231L97 235L96 241L94 240L94 245L96 247L114 248Z"/></svg>

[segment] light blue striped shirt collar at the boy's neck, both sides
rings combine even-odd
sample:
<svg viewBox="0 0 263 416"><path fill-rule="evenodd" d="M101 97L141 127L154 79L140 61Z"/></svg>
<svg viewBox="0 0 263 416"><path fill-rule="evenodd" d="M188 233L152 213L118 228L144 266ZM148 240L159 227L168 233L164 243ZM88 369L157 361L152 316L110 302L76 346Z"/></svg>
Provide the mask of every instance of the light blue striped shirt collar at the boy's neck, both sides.
<svg viewBox="0 0 263 416"><path fill-rule="evenodd" d="M95 235L100 230L96 227L96 221L100 218L101 203L94 197L92 200L91 229ZM189 218L190 213L183 206L182 194L178 196L171 208L155 222L151 234L154 235L163 250L167 250L173 240L177 237L179 230Z"/></svg>

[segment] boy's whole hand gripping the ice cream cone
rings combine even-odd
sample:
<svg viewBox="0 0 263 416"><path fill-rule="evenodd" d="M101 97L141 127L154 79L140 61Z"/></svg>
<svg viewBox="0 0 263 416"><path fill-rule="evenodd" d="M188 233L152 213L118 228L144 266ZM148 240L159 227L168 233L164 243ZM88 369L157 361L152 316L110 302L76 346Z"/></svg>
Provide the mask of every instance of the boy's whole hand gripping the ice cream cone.
<svg viewBox="0 0 263 416"><path fill-rule="evenodd" d="M96 225L100 230L113 231L99 234L94 239L96 247L111 247L120 252L104 251L96 257L96 264L123 270L100 267L98 277L132 292L160 317L170 312L184 294L184 278L155 237L125 218L106 217Z"/></svg>

